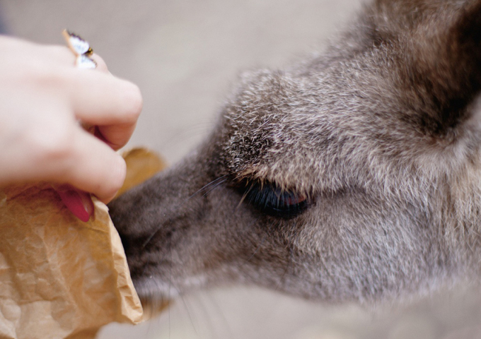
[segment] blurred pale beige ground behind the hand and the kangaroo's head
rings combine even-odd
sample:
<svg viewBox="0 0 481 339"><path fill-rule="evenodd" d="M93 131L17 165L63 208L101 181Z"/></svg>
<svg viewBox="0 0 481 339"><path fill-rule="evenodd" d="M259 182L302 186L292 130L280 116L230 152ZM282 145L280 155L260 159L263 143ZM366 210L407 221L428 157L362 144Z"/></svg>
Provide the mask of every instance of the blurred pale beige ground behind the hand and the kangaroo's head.
<svg viewBox="0 0 481 339"><path fill-rule="evenodd" d="M129 146L173 163L206 136L239 71L282 67L320 49L360 7L360 0L0 0L0 15L10 34L28 40L64 44L63 28L88 40L112 73L144 95ZM186 296L157 319L112 324L99 338L481 338L481 298L473 291L388 309L233 288Z"/></svg>

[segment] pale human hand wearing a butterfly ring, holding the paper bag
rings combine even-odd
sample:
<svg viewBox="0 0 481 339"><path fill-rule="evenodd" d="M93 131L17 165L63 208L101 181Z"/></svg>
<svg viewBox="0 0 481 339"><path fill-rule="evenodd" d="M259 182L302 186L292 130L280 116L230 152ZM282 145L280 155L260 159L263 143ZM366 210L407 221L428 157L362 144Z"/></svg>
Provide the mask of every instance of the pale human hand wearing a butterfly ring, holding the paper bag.
<svg viewBox="0 0 481 339"><path fill-rule="evenodd" d="M0 36L0 50L0 186L52 182L61 195L71 185L108 203L124 181L115 150L137 124L139 88L95 54L98 68L86 70L67 47Z"/></svg>

